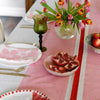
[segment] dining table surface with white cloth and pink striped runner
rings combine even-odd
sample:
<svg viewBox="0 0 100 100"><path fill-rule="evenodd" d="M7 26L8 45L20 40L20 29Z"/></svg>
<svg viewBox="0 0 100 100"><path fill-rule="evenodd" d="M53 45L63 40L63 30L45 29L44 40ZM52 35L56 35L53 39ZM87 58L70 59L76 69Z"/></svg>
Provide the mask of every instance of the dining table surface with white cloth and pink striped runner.
<svg viewBox="0 0 100 100"><path fill-rule="evenodd" d="M47 3L49 2L54 8L54 1L56 0L47 1ZM93 20L93 25L85 25L85 28L79 32L77 31L77 34L71 39L61 39L56 34L54 22L48 22L48 30L43 34L42 43L43 46L47 47L47 51L42 52L42 56L38 61L27 65L26 69L21 72L30 77L0 74L0 97L10 91L37 90L46 94L50 100L100 100L100 54L94 52L86 42L88 34L100 32L100 1L71 1L74 3L89 1L91 3L87 17ZM36 0L32 5L8 36L4 42L5 44L27 43L39 46L38 34L33 30L34 23L25 19L28 14L35 12L36 9L43 9L40 5L40 0ZM23 27L23 25L30 26ZM56 76L49 73L44 67L44 60L48 56L55 55L61 51L78 57L79 68L71 75ZM0 67L2 67L2 64L0 64Z"/></svg>

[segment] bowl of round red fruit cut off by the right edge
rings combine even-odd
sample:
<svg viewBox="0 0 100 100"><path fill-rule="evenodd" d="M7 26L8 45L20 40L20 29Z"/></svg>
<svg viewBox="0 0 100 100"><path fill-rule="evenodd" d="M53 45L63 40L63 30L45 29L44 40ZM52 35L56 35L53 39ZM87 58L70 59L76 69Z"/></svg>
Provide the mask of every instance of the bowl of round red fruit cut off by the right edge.
<svg viewBox="0 0 100 100"><path fill-rule="evenodd" d="M92 33L86 37L87 43L92 47L94 52L100 54L100 33Z"/></svg>

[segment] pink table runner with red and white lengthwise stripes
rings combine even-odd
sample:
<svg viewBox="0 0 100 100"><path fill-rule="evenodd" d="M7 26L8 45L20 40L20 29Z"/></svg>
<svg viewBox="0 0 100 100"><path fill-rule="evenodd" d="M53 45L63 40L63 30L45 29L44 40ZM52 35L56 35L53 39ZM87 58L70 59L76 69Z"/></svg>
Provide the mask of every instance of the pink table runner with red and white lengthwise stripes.
<svg viewBox="0 0 100 100"><path fill-rule="evenodd" d="M38 62L29 66L26 74L31 77L23 78L18 89L42 91L47 94L50 100L100 100L100 55L96 54L85 41L85 37L88 34L99 32L100 30L100 1L88 1L92 5L88 16L93 20L93 25L89 26L89 28L86 26L85 29L81 30L80 36L76 35L72 39L62 40L56 35L54 23L49 23L50 30L44 35L43 41L47 51L43 53ZM75 74L67 77L57 77L45 70L44 59L58 51L65 51L70 55L78 55L80 66Z"/></svg>

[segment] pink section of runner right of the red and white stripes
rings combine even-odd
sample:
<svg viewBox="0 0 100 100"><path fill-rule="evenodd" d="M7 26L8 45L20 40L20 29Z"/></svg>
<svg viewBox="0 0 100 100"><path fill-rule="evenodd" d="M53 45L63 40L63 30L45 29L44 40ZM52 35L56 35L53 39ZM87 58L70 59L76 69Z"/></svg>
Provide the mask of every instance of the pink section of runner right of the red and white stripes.
<svg viewBox="0 0 100 100"><path fill-rule="evenodd" d="M90 18L93 25L89 26L89 34L100 33L100 1L91 0ZM95 53L90 46L87 51L83 100L100 100L100 54Z"/></svg>

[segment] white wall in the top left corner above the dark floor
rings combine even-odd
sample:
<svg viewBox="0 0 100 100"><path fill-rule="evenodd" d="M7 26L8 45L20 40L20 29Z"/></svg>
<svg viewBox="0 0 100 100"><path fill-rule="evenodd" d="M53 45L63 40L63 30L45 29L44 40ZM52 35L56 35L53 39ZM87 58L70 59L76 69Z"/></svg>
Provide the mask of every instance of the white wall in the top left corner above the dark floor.
<svg viewBox="0 0 100 100"><path fill-rule="evenodd" d="M25 0L0 0L0 16L24 16Z"/></svg>

